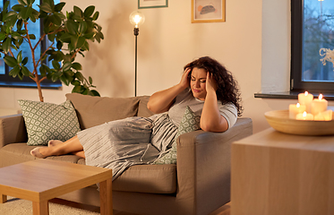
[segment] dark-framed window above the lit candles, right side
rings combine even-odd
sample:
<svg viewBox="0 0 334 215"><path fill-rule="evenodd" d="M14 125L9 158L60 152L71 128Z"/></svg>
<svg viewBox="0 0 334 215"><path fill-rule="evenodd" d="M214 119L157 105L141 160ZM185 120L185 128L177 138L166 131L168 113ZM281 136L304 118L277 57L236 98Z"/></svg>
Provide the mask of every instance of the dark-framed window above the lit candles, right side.
<svg viewBox="0 0 334 215"><path fill-rule="evenodd" d="M292 91L334 91L334 67L321 63L321 48L334 48L334 1L291 0Z"/></svg>

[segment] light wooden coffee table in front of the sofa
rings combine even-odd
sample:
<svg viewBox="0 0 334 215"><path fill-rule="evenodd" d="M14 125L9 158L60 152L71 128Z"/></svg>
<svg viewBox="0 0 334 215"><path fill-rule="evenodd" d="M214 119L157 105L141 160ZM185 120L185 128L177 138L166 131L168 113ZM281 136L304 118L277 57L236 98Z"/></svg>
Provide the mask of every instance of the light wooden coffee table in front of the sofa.
<svg viewBox="0 0 334 215"><path fill-rule="evenodd" d="M112 170L80 164L35 159L0 168L0 203L7 195L32 202L33 214L48 214L48 201L99 183L100 213L113 214Z"/></svg>

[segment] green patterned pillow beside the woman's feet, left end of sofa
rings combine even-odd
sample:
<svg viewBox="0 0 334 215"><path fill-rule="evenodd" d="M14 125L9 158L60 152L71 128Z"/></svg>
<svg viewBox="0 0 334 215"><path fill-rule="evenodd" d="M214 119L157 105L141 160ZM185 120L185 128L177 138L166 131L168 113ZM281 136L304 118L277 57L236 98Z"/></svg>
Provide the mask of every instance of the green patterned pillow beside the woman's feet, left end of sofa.
<svg viewBox="0 0 334 215"><path fill-rule="evenodd" d="M67 141L81 129L71 101L60 105L18 100L28 133L28 145L47 145L49 140Z"/></svg>

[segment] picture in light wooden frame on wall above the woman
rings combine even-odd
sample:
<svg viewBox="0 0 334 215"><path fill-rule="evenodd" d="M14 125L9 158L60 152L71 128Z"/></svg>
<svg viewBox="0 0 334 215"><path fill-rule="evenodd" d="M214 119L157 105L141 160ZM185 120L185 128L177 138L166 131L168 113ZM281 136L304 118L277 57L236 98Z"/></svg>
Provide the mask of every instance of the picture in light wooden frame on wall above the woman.
<svg viewBox="0 0 334 215"><path fill-rule="evenodd" d="M226 0L191 0L192 22L225 22Z"/></svg>

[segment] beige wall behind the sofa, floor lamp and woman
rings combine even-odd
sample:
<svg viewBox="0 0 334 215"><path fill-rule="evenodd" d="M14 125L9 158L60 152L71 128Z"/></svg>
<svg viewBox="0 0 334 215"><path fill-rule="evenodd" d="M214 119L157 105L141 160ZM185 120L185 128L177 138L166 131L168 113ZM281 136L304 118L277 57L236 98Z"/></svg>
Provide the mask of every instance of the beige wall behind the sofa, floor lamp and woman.
<svg viewBox="0 0 334 215"><path fill-rule="evenodd" d="M67 0L84 8L90 0ZM78 58L102 96L130 97L134 86L134 36L129 14L137 0L94 1L105 40L90 44ZM227 22L191 23L191 0L169 0L167 8L142 9L146 21L138 36L138 95L176 84L184 64L212 56L239 82L244 116L253 118L254 133L269 127L263 116L285 109L294 100L254 99L253 93L288 89L289 0L227 1ZM262 8L263 7L263 8ZM263 11L263 13L262 13ZM43 90L45 101L61 103L72 88ZM0 88L0 108L18 109L17 99L38 100L35 89ZM1 113L0 113L1 115Z"/></svg>

